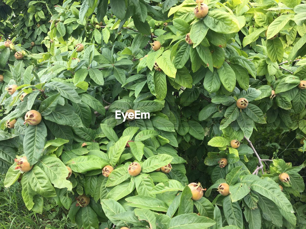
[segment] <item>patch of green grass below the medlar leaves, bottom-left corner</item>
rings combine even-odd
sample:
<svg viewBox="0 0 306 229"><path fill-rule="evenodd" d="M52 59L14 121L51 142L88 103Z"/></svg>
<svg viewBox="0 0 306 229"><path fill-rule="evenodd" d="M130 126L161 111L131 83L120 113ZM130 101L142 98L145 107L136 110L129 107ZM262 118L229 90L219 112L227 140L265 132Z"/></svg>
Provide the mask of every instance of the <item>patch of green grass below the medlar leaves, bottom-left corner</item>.
<svg viewBox="0 0 306 229"><path fill-rule="evenodd" d="M46 201L42 214L29 211L21 196L21 184L9 188L3 185L0 175L0 229L76 229L67 218L68 211L56 203Z"/></svg>

